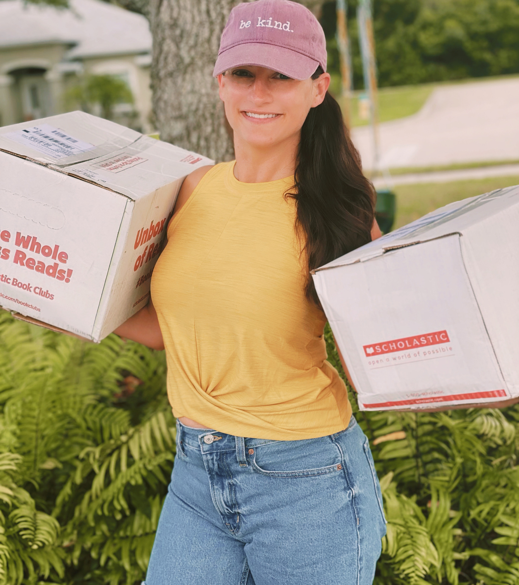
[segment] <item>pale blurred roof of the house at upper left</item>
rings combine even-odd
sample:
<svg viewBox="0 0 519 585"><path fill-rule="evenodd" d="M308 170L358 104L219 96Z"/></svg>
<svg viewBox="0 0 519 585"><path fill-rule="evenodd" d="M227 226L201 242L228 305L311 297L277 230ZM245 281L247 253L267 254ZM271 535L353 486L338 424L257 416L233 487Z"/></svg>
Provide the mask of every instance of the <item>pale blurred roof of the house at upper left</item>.
<svg viewBox="0 0 519 585"><path fill-rule="evenodd" d="M42 43L69 44L67 59L148 53L148 20L101 0L70 0L70 9L0 1L0 48Z"/></svg>

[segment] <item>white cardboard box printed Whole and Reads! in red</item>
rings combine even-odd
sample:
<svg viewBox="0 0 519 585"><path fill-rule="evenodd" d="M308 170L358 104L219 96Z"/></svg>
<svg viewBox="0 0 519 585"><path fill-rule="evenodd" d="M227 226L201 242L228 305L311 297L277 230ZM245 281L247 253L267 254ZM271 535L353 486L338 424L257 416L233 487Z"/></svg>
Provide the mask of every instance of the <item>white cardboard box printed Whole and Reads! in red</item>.
<svg viewBox="0 0 519 585"><path fill-rule="evenodd" d="M103 339L146 304L180 185L212 163L84 112L0 128L0 305Z"/></svg>

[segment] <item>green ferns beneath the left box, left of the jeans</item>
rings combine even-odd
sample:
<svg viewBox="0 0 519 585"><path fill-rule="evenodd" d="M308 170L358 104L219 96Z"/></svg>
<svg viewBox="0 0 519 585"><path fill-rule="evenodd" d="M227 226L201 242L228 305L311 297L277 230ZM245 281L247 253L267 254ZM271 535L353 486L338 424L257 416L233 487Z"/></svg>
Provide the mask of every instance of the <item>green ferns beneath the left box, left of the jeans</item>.
<svg viewBox="0 0 519 585"><path fill-rule="evenodd" d="M2 585L144 577L175 455L165 371L162 352L2 312Z"/></svg>

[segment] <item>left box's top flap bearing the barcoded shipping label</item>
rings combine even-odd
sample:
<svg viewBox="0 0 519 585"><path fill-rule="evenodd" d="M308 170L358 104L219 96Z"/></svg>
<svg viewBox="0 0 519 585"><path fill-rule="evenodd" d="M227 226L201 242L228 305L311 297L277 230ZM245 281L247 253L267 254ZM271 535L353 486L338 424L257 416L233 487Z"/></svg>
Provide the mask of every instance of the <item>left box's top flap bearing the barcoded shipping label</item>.
<svg viewBox="0 0 519 585"><path fill-rule="evenodd" d="M68 112L0 129L0 150L66 167L117 152L142 134L86 112Z"/></svg>

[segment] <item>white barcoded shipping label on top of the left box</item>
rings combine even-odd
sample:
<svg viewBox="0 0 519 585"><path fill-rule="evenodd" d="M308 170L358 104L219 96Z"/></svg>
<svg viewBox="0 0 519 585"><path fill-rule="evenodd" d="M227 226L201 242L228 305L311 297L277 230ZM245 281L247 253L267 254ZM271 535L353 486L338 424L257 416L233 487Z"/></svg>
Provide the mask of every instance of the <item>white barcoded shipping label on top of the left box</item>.
<svg viewBox="0 0 519 585"><path fill-rule="evenodd" d="M28 146L37 150L53 159L64 159L67 156L87 152L94 148L94 144L83 142L70 136L67 132L59 128L54 128L49 124L40 124L32 128L23 128L16 132L4 134L11 140L15 140L23 146Z"/></svg>

